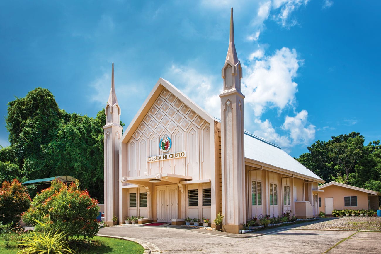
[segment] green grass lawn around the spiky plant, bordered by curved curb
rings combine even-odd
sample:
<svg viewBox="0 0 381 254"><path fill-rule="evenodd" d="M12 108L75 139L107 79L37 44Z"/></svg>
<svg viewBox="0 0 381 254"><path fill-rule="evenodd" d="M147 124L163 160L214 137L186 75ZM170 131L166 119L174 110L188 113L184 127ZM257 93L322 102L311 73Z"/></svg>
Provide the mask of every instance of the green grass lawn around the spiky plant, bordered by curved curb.
<svg viewBox="0 0 381 254"><path fill-rule="evenodd" d="M87 253L143 253L144 248L135 242L120 240L108 237L94 237L93 240L99 240L102 242L101 246L93 247L86 252L79 252L80 254ZM10 244L15 244L13 241ZM0 238L0 253L1 254L10 254L17 253L19 248L10 246L6 247L3 238Z"/></svg>

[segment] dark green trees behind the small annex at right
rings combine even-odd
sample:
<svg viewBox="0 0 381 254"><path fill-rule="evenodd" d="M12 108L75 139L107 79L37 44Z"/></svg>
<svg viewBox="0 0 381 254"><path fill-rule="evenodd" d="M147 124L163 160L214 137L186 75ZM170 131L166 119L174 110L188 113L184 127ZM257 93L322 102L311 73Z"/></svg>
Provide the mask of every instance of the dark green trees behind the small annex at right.
<svg viewBox="0 0 381 254"><path fill-rule="evenodd" d="M381 146L373 141L364 146L359 132L316 141L309 152L296 158L327 182L337 181L381 191Z"/></svg>

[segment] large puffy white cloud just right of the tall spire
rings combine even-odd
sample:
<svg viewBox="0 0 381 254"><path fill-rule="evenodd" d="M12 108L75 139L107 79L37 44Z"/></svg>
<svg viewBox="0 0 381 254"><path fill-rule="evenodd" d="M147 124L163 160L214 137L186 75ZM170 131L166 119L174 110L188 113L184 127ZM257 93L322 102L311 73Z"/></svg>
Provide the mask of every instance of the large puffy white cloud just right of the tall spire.
<svg viewBox="0 0 381 254"><path fill-rule="evenodd" d="M250 57L256 55L259 54L254 52ZM282 48L273 56L265 56L263 60L244 67L242 91L255 116L260 117L266 108L277 107L282 111L293 104L298 91L293 78L301 62L295 49Z"/></svg>

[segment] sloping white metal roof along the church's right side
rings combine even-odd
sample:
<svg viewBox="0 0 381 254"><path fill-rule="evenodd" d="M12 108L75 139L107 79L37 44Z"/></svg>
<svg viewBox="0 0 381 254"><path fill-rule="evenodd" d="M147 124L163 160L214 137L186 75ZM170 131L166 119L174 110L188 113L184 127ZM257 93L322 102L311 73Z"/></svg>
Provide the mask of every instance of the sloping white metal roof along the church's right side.
<svg viewBox="0 0 381 254"><path fill-rule="evenodd" d="M279 146L245 132L245 158L323 181Z"/></svg>

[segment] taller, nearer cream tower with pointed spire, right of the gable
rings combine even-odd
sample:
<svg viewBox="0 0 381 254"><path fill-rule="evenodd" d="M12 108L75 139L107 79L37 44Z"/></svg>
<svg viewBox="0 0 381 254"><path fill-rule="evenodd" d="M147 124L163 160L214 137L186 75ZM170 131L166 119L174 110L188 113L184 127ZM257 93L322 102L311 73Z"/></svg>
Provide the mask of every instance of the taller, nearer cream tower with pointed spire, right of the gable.
<svg viewBox="0 0 381 254"><path fill-rule="evenodd" d="M221 98L222 213L225 232L238 233L246 220L245 152L243 137L242 67L234 45L233 8L229 48L222 68L224 90Z"/></svg>

